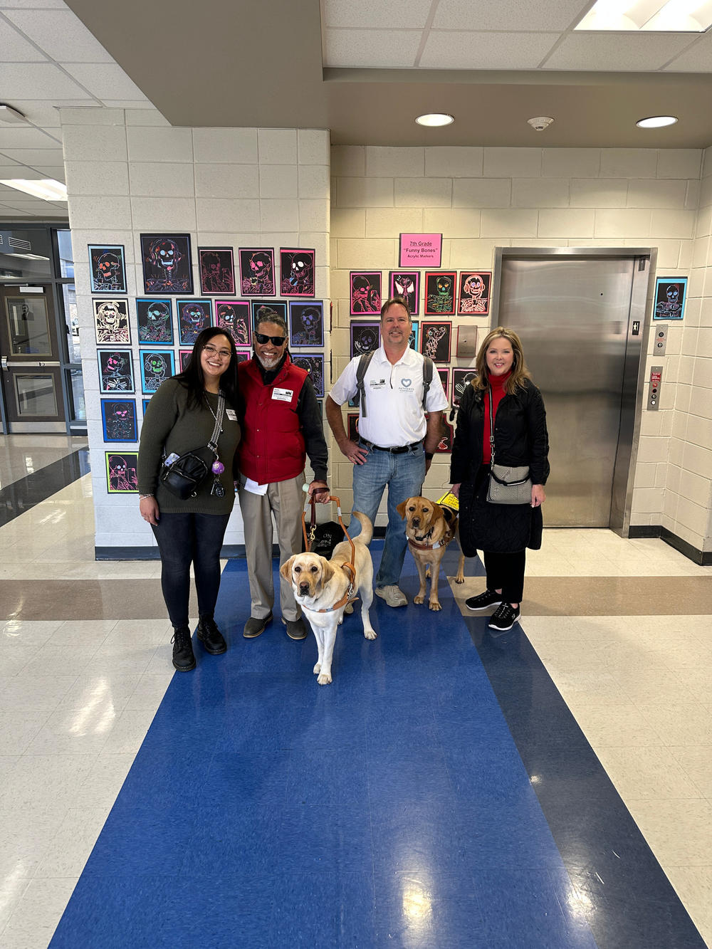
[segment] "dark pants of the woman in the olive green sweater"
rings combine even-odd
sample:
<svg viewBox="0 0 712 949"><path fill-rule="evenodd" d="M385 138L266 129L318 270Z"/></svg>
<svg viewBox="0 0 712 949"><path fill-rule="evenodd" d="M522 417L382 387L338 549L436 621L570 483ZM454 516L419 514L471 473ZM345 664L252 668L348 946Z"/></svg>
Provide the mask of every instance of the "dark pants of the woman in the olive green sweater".
<svg viewBox="0 0 712 949"><path fill-rule="evenodd" d="M163 514L153 528L160 551L160 586L173 626L188 625L191 563L197 611L212 617L220 588L220 548L230 514Z"/></svg>

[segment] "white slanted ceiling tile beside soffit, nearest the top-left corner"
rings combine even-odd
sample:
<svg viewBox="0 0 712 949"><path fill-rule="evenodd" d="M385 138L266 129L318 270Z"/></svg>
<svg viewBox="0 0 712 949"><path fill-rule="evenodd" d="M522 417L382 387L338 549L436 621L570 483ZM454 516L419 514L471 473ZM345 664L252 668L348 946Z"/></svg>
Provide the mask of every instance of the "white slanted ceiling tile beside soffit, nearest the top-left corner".
<svg viewBox="0 0 712 949"><path fill-rule="evenodd" d="M113 62L99 40L70 9L8 10L5 15L51 59L64 62L68 58L73 63Z"/></svg>

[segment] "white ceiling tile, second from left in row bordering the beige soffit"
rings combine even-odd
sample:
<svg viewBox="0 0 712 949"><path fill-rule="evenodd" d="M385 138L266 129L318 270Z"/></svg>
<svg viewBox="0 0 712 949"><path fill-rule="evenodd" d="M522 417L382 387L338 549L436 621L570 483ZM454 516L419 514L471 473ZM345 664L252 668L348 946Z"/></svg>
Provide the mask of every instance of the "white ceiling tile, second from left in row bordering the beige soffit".
<svg viewBox="0 0 712 949"><path fill-rule="evenodd" d="M427 69L534 69L558 33L451 33L431 30L422 51Z"/></svg>

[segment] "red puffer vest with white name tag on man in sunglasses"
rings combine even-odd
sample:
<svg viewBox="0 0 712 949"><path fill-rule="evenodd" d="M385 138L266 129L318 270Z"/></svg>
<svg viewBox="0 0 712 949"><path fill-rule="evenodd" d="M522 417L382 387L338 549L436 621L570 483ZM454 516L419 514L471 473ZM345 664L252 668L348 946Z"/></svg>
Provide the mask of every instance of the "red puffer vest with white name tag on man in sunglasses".
<svg viewBox="0 0 712 949"><path fill-rule="evenodd" d="M289 354L269 385L262 381L255 357L237 365L245 400L237 467L257 484L286 481L304 471L307 451L297 400L307 375L306 369L291 362Z"/></svg>

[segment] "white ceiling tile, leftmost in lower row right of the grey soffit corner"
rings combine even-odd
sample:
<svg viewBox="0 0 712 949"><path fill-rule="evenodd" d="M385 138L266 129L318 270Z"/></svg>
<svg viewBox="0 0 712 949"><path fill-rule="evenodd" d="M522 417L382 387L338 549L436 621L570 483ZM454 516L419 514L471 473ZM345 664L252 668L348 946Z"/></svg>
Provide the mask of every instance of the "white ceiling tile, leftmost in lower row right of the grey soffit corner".
<svg viewBox="0 0 712 949"><path fill-rule="evenodd" d="M324 65L407 69L415 65L422 30L328 29Z"/></svg>

